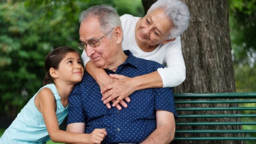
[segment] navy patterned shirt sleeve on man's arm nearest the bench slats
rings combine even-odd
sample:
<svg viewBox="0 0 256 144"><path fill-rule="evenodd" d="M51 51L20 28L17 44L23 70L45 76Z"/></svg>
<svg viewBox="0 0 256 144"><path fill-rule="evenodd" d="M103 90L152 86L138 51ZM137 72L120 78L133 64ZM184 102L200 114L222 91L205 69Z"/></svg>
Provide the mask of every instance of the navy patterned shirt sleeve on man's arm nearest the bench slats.
<svg viewBox="0 0 256 144"><path fill-rule="evenodd" d="M172 88L155 88L155 105L154 110L165 110L172 112L174 118L178 118L176 112L174 95Z"/></svg>

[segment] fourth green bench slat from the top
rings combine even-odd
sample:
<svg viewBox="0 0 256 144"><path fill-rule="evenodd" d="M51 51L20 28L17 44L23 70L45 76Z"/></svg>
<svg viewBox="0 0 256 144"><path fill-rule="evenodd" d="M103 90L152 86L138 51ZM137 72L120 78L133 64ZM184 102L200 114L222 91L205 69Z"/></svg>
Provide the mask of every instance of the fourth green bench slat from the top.
<svg viewBox="0 0 256 144"><path fill-rule="evenodd" d="M187 114L178 118L256 118L256 114Z"/></svg>

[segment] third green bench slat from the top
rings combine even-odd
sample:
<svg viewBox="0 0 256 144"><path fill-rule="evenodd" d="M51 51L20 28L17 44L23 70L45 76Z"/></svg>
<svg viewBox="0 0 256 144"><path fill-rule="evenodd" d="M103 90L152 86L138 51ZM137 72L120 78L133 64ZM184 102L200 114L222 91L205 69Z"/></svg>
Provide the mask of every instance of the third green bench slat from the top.
<svg viewBox="0 0 256 144"><path fill-rule="evenodd" d="M256 107L210 107L210 108L176 108L177 111L202 111L202 110L256 110Z"/></svg>

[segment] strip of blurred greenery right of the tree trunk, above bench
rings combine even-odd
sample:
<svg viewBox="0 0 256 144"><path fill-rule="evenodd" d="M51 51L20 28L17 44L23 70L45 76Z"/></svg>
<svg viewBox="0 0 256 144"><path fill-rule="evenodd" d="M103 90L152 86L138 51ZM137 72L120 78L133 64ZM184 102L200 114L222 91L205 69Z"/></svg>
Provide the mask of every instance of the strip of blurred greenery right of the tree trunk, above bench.
<svg viewBox="0 0 256 144"><path fill-rule="evenodd" d="M255 92L256 0L228 0L237 92Z"/></svg>

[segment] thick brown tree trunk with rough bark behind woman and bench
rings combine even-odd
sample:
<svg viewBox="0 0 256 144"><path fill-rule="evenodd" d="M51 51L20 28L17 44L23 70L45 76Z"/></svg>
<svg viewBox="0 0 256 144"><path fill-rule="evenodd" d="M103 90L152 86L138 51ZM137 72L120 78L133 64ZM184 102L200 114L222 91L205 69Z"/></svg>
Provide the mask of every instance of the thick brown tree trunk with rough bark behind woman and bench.
<svg viewBox="0 0 256 144"><path fill-rule="evenodd" d="M142 0L152 4L154 0ZM190 10L190 26L181 36L186 64L186 80L176 93L235 92L228 21L228 0L182 0ZM144 8L149 8L144 4ZM232 107L236 104L204 104L204 107ZM182 107L199 107L186 104ZM197 114L183 112L180 114ZM202 114L202 112L199 112ZM236 111L209 111L204 114L230 114ZM240 118L178 119L176 122L232 122ZM176 127L176 129L183 129ZM190 126L189 129L242 129L241 126ZM182 135L177 135L182 136ZM184 135L183 135L184 136ZM186 137L241 136L241 134L187 134ZM243 141L176 141L181 144L244 144Z"/></svg>

